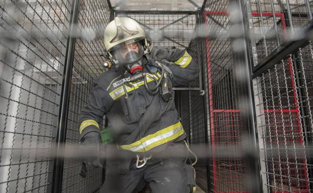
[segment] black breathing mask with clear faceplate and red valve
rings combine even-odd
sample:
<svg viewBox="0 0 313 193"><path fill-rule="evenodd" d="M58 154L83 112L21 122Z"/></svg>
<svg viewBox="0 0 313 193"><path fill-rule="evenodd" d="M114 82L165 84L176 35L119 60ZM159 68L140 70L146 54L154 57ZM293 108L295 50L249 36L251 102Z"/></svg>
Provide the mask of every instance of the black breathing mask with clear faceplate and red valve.
<svg viewBox="0 0 313 193"><path fill-rule="evenodd" d="M123 67L131 74L143 70L143 55L143 46L138 42L122 46L114 51L119 67Z"/></svg>

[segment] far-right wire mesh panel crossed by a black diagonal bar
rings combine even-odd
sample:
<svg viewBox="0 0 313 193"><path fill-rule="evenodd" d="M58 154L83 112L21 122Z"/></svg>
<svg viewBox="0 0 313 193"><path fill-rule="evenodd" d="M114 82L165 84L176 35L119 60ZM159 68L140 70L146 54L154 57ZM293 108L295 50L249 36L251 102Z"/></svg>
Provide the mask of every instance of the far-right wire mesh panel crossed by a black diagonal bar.
<svg viewBox="0 0 313 193"><path fill-rule="evenodd" d="M251 1L254 65L281 44L297 40L312 19L310 1ZM256 38L259 37L259 38ZM263 191L310 192L311 46L253 80Z"/></svg>

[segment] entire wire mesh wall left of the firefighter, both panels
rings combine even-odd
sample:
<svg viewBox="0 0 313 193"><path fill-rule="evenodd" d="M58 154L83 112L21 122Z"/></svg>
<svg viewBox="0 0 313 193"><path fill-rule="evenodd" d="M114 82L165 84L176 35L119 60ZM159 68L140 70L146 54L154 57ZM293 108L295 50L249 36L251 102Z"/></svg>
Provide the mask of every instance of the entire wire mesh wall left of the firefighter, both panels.
<svg viewBox="0 0 313 193"><path fill-rule="evenodd" d="M74 1L2 1L0 10L0 189L50 192L62 79L69 37L76 38L66 128L66 151L78 146L78 115L92 82L103 72L103 30L108 1L80 1L76 31L69 31ZM72 33L72 34L70 34ZM103 126L103 124L102 124ZM51 153L49 153L51 151ZM95 192L102 169L79 176L81 160L66 159L62 192Z"/></svg>

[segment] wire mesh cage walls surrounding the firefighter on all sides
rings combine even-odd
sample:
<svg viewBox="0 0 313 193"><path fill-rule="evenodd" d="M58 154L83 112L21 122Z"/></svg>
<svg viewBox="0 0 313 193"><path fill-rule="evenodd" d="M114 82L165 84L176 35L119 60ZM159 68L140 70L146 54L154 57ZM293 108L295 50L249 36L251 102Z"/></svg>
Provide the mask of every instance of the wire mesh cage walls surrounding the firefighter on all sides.
<svg viewBox="0 0 313 193"><path fill-rule="evenodd" d="M242 7L236 10L234 3ZM198 79L175 88L190 147L203 153L195 165L199 187L206 192L254 192L255 186L263 192L311 192L313 45L291 48L288 42L303 41L312 4L219 0L204 1L198 11L150 12L113 10L110 1L100 0L0 2L0 191L99 190L102 169L90 167L82 178L81 160L53 153L77 149L80 109L93 81L106 70L103 31L114 16L126 16L141 24L153 46L186 49L200 66ZM244 40L236 30L240 18L249 29ZM281 50L288 54L279 55ZM252 72L243 70L247 66ZM64 92L68 109L60 123ZM255 117L247 113L249 107ZM105 127L105 119L100 125ZM253 145L259 152L251 153ZM257 177L262 183L254 184Z"/></svg>

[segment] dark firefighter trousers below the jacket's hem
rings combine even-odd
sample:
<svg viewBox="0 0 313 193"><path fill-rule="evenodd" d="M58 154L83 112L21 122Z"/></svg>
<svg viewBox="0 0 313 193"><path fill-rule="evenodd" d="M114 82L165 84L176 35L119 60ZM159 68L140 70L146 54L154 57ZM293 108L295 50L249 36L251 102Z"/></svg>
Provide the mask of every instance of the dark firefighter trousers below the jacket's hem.
<svg viewBox="0 0 313 193"><path fill-rule="evenodd" d="M180 160L162 160L137 168L130 165L129 174L107 170L100 193L136 193L148 183L152 193L189 193L195 190L195 173L191 165Z"/></svg>

